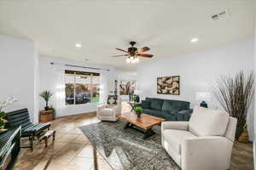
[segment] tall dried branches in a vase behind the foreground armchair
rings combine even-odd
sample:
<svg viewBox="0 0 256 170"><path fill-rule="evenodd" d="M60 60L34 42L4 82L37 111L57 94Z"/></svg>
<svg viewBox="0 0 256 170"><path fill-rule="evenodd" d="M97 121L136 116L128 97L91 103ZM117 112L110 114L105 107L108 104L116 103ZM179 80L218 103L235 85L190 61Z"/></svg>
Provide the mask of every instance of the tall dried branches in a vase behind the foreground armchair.
<svg viewBox="0 0 256 170"><path fill-rule="evenodd" d="M251 105L254 94L254 74L251 71L245 76L239 71L233 77L220 77L215 86L212 86L213 94L218 103L223 106L230 116L236 117L236 140L239 140L241 133L247 133L247 111Z"/></svg>

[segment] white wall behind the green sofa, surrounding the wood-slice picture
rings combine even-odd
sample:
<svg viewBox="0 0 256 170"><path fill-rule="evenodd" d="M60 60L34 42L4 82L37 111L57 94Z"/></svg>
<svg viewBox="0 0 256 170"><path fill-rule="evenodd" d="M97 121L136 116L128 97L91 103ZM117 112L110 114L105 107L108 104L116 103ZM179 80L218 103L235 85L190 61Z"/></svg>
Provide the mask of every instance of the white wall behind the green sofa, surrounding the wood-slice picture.
<svg viewBox="0 0 256 170"><path fill-rule="evenodd" d="M253 69L253 38L138 65L137 89L143 90L144 97L187 100L193 107L198 104L196 91L209 91L209 84L216 77L234 74L241 69ZM157 94L156 78L176 75L180 76L180 95ZM218 105L216 100L209 104ZM253 139L253 108L248 113L247 124Z"/></svg>

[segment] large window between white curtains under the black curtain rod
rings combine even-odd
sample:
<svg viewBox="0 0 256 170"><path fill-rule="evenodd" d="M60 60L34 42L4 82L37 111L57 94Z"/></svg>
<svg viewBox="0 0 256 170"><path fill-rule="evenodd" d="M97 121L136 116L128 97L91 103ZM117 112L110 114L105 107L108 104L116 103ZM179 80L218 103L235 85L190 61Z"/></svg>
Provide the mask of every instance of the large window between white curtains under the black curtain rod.
<svg viewBox="0 0 256 170"><path fill-rule="evenodd" d="M65 71L65 82L66 105L80 105L89 102L99 102L99 73Z"/></svg>

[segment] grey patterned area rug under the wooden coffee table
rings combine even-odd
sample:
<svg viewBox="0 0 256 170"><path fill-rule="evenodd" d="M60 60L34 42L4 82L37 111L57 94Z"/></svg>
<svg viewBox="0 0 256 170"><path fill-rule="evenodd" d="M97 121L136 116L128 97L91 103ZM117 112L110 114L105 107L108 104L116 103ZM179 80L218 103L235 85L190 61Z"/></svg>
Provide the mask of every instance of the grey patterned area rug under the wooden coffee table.
<svg viewBox="0 0 256 170"><path fill-rule="evenodd" d="M180 170L160 144L160 126L148 139L124 126L123 121L97 122L80 129L114 170Z"/></svg>

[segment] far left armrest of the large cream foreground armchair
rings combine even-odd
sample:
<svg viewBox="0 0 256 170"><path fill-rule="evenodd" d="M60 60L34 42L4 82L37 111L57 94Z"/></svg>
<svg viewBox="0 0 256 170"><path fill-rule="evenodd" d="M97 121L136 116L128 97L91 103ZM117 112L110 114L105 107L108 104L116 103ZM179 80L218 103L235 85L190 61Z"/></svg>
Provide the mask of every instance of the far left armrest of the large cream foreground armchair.
<svg viewBox="0 0 256 170"><path fill-rule="evenodd" d="M162 122L161 131L165 129L189 130L189 122Z"/></svg>

